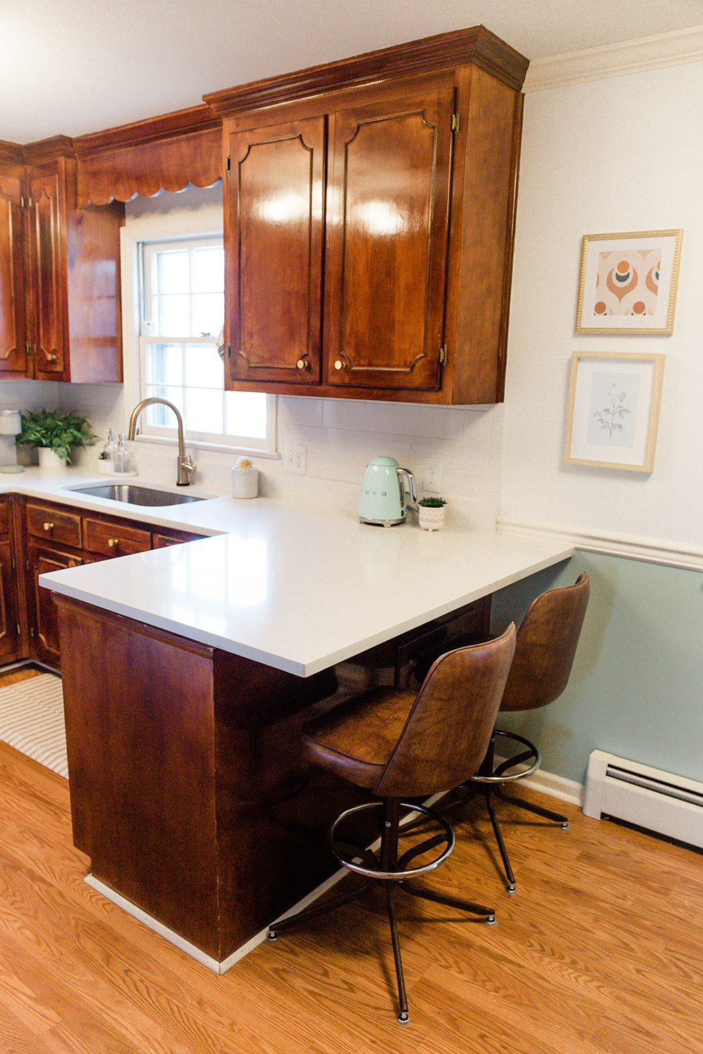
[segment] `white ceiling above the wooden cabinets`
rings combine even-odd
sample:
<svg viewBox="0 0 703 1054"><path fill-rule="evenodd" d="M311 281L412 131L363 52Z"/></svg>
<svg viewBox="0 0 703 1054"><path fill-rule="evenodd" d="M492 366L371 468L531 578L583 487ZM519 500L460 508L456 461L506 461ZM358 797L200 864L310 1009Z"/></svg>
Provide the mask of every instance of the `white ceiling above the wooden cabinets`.
<svg viewBox="0 0 703 1054"><path fill-rule="evenodd" d="M703 0L0 0L0 139L97 132L479 23L536 59L700 25Z"/></svg>

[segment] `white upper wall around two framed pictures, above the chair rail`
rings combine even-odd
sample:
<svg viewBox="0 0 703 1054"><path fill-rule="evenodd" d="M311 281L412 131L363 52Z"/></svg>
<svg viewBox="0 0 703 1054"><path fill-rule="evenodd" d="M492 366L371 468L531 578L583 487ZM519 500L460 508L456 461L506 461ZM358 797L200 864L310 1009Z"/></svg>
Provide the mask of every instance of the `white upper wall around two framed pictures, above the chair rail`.
<svg viewBox="0 0 703 1054"><path fill-rule="evenodd" d="M703 544L703 63L526 96L501 512ZM574 335L584 234L683 229L671 336ZM564 465L572 351L664 352L655 469Z"/></svg>

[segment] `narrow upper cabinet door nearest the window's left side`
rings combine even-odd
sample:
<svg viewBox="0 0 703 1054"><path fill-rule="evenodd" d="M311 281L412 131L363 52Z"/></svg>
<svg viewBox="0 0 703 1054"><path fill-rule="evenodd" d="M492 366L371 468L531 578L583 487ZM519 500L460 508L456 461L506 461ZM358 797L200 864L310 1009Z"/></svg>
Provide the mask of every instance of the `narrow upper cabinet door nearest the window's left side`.
<svg viewBox="0 0 703 1054"><path fill-rule="evenodd" d="M58 171L30 180L30 260L33 277L35 373L63 372L65 267Z"/></svg>

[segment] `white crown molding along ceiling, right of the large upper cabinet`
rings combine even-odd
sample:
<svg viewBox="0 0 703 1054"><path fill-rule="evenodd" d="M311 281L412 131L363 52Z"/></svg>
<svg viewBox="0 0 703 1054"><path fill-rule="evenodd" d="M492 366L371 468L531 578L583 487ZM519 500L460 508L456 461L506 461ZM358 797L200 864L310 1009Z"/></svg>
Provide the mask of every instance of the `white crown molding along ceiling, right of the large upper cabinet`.
<svg viewBox="0 0 703 1054"><path fill-rule="evenodd" d="M588 47L552 58L534 59L530 62L523 91L525 94L544 92L550 87L624 77L702 60L703 25L695 25L688 30L626 40L605 47Z"/></svg>

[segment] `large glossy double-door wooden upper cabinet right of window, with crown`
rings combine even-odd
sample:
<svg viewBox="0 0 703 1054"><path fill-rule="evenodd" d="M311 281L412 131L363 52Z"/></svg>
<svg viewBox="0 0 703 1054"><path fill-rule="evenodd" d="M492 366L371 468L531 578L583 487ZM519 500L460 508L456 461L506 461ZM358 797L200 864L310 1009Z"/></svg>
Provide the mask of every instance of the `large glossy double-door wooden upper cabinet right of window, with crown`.
<svg viewBox="0 0 703 1054"><path fill-rule="evenodd" d="M526 72L475 26L206 96L231 165L227 387L503 398Z"/></svg>

